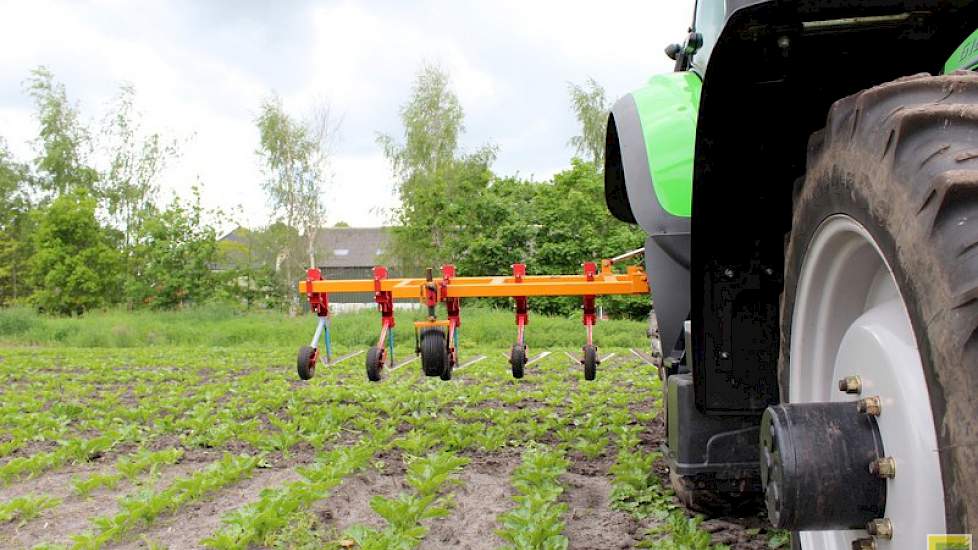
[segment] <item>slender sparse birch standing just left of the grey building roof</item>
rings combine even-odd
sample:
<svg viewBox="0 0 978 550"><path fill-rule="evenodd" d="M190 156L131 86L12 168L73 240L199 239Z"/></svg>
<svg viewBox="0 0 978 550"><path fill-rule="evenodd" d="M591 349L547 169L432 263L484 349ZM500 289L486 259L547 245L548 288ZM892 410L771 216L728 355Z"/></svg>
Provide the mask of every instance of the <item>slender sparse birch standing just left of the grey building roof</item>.
<svg viewBox="0 0 978 550"><path fill-rule="evenodd" d="M329 145L337 127L328 108L321 108L303 124L285 112L282 101L273 96L261 106L256 121L260 135L258 156L264 163L263 187L273 210L286 226L305 236L305 252L315 265L316 231L322 225L325 206L323 179L329 158ZM297 256L296 243L282 243L290 257ZM285 279L291 290L292 261L285 262ZM291 300L290 300L291 302Z"/></svg>

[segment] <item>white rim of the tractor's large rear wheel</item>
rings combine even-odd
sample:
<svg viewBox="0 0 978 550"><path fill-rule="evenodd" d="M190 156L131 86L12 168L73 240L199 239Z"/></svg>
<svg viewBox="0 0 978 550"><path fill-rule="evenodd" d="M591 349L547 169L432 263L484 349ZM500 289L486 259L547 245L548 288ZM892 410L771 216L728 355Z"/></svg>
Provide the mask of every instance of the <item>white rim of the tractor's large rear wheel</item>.
<svg viewBox="0 0 978 550"><path fill-rule="evenodd" d="M889 265L865 227L844 215L826 219L809 244L791 323L788 400L855 401L878 395L883 449L896 460L886 481L892 540L877 548L926 548L944 533L944 490L927 384L906 305ZM839 391L859 376L862 394ZM868 465L867 465L868 466ZM805 531L805 550L849 550L864 530Z"/></svg>

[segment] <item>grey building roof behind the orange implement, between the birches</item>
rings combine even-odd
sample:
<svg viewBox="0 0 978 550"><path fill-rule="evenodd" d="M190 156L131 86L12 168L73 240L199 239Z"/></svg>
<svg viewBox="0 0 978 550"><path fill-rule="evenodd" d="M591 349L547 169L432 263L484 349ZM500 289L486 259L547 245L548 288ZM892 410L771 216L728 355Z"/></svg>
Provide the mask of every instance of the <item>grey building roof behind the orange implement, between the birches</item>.
<svg viewBox="0 0 978 550"><path fill-rule="evenodd" d="M386 227L323 227L316 234L316 263L322 267L372 267L388 252Z"/></svg>

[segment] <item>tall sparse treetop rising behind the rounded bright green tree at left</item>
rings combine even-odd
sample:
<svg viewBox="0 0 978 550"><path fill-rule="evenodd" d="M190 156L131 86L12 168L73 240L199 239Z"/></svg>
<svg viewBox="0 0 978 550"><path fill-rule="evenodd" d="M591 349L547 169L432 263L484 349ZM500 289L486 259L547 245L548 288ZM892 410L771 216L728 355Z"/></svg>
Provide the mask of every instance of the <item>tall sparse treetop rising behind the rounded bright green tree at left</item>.
<svg viewBox="0 0 978 550"><path fill-rule="evenodd" d="M27 79L27 91L41 124L34 160L38 186L55 195L78 189L94 194L98 172L88 164L91 136L79 120L78 108L68 102L64 85L47 68L38 67Z"/></svg>

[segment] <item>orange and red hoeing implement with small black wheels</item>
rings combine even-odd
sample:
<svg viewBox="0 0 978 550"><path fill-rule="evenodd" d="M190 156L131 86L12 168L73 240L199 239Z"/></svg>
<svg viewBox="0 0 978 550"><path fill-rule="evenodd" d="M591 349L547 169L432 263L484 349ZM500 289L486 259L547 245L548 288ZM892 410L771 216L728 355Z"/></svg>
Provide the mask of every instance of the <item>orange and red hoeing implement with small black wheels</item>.
<svg viewBox="0 0 978 550"><path fill-rule="evenodd" d="M593 380L598 359L593 340L593 327L597 322L596 299L599 296L639 294L647 295L649 285L645 271L639 266L628 266L625 273L615 273L616 262L638 256L637 249L615 258L601 260L600 269L595 262L583 264L579 275L527 275L526 264L514 264L512 275L488 277L459 277L455 266L441 267L441 277L434 276L433 269L426 270L423 278L391 278L387 268L377 266L373 279L324 279L317 268L306 272L306 280L299 283L299 292L305 294L309 306L318 320L313 339L308 346L299 349L297 369L303 380L312 378L317 362L330 364L329 295L354 292L373 292L374 301L381 314L381 329L377 343L367 350L367 378L379 381L385 365L394 364L394 300L417 299L428 309L427 319L414 323L415 353L421 356L421 366L427 376L439 376L450 380L452 369L458 365L459 327L462 298L513 298L516 311L516 343L510 350L509 362L515 378L523 377L527 363L525 327L529 324L529 299L539 296L580 296L583 306L583 323L586 340L582 347L581 364L584 377ZM438 304L445 305L445 318L439 319ZM324 344L325 359L320 353Z"/></svg>

